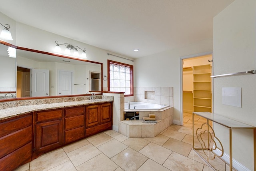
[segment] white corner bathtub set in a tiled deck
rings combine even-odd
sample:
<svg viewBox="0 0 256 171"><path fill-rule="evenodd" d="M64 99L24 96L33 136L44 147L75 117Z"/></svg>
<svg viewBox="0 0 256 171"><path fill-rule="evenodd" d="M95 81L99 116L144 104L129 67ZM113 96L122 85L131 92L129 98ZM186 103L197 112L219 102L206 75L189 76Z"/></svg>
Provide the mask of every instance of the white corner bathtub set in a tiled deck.
<svg viewBox="0 0 256 171"><path fill-rule="evenodd" d="M128 108L128 103L124 103L124 111L158 111L169 107L168 105L158 105L153 103L144 103L133 101L130 102L130 109Z"/></svg>

